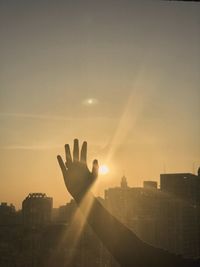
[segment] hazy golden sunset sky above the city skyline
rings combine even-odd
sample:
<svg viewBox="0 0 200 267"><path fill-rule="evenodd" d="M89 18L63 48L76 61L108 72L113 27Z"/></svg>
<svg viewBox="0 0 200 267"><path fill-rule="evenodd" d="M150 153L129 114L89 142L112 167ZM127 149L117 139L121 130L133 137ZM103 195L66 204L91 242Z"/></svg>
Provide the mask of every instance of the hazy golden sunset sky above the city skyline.
<svg viewBox="0 0 200 267"><path fill-rule="evenodd" d="M200 5L0 1L0 202L65 204L56 156L88 141L96 194L200 165Z"/></svg>

